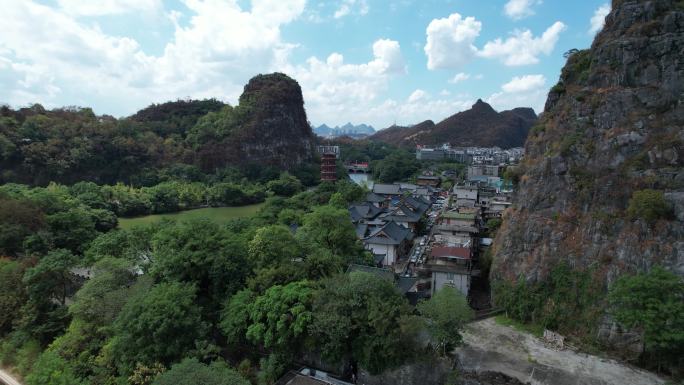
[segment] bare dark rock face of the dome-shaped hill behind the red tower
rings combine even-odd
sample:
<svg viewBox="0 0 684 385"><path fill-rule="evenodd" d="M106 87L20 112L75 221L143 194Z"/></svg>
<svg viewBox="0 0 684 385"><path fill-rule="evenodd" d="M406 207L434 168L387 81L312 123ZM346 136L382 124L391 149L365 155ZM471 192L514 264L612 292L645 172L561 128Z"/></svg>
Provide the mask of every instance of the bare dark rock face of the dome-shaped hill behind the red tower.
<svg viewBox="0 0 684 385"><path fill-rule="evenodd" d="M240 150L236 162L292 169L312 159L314 135L295 80L281 73L255 76L240 107L247 118L231 138Z"/></svg>

